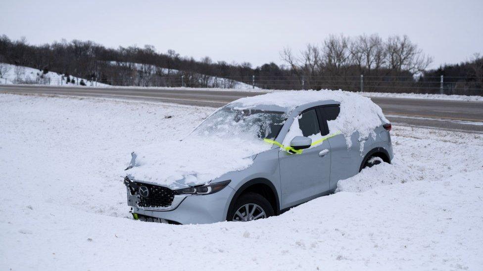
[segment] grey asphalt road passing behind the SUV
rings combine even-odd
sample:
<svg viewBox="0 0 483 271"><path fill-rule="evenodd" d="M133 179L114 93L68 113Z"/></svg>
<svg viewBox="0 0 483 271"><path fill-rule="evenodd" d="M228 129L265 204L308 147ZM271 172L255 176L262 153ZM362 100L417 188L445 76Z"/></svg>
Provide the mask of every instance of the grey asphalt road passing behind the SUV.
<svg viewBox="0 0 483 271"><path fill-rule="evenodd" d="M246 96L264 94L236 90L186 90L146 88L78 88L49 86L0 85L3 93L34 93L135 99L184 105L221 107ZM483 133L483 102L428 99L371 98L394 125L430 127L445 130Z"/></svg>

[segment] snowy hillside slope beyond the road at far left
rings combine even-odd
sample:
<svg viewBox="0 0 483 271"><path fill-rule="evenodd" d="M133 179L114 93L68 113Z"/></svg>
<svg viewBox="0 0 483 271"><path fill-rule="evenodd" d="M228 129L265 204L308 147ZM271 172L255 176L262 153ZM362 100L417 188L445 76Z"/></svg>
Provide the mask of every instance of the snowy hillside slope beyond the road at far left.
<svg viewBox="0 0 483 271"><path fill-rule="evenodd" d="M53 85L53 86L79 86L80 82L83 80L86 86L107 86L106 84L91 82L87 79L69 76L70 82L67 82L67 77L62 74L48 72L44 74L43 71L24 67L16 66L6 63L0 63L0 65L6 67L6 73L0 77L1 84L40 84L40 85Z"/></svg>

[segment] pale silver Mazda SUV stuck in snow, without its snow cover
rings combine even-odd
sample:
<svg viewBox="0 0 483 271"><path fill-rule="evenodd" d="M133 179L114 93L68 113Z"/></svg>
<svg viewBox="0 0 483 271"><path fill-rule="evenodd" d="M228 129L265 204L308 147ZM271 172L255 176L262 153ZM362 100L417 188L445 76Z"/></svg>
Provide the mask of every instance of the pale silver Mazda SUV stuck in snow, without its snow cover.
<svg viewBox="0 0 483 271"><path fill-rule="evenodd" d="M261 126L265 128L258 129L257 138L265 140L269 147L252 155L252 162L246 168L226 172L204 184L176 182L176 187L139 180L129 173L137 166L133 153L124 184L134 218L170 224L267 218L334 193L339 180L357 174L366 166L381 161L390 163L393 157L391 125L383 120L384 116L380 118L380 125L371 131L372 136L362 138L357 131L349 136L331 134L328 121L343 114L340 110L340 103L335 100L308 102L294 108L265 103L246 110L238 101L226 105L204 120L193 133L210 131L220 118L231 118L235 120L233 123L238 123L240 118L252 116L263 119ZM293 136L290 128L296 122L301 134ZM252 125L257 123L260 122L252 122ZM314 138L319 140L315 142ZM216 152L220 151L231 150L220 146ZM180 184L185 185L179 188Z"/></svg>

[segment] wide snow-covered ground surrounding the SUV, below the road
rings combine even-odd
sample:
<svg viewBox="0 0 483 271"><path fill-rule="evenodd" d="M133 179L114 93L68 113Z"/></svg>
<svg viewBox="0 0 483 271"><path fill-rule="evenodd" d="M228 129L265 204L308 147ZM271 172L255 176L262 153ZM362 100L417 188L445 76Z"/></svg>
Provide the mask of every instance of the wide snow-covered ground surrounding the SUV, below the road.
<svg viewBox="0 0 483 271"><path fill-rule="evenodd" d="M248 223L134 221L119 169L213 109L0 95L6 270L482 270L483 137L393 127L393 164ZM171 116L171 117L167 117Z"/></svg>

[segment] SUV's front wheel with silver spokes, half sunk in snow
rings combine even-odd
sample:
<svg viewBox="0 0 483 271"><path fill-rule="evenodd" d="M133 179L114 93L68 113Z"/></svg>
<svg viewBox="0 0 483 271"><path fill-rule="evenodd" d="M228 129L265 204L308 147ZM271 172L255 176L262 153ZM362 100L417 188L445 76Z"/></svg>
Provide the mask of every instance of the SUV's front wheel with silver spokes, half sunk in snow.
<svg viewBox="0 0 483 271"><path fill-rule="evenodd" d="M246 206L248 206L248 216L246 216ZM251 214L251 215L250 215ZM233 208L228 212L228 221L251 221L273 216L270 202L260 194L249 192L241 194Z"/></svg>

